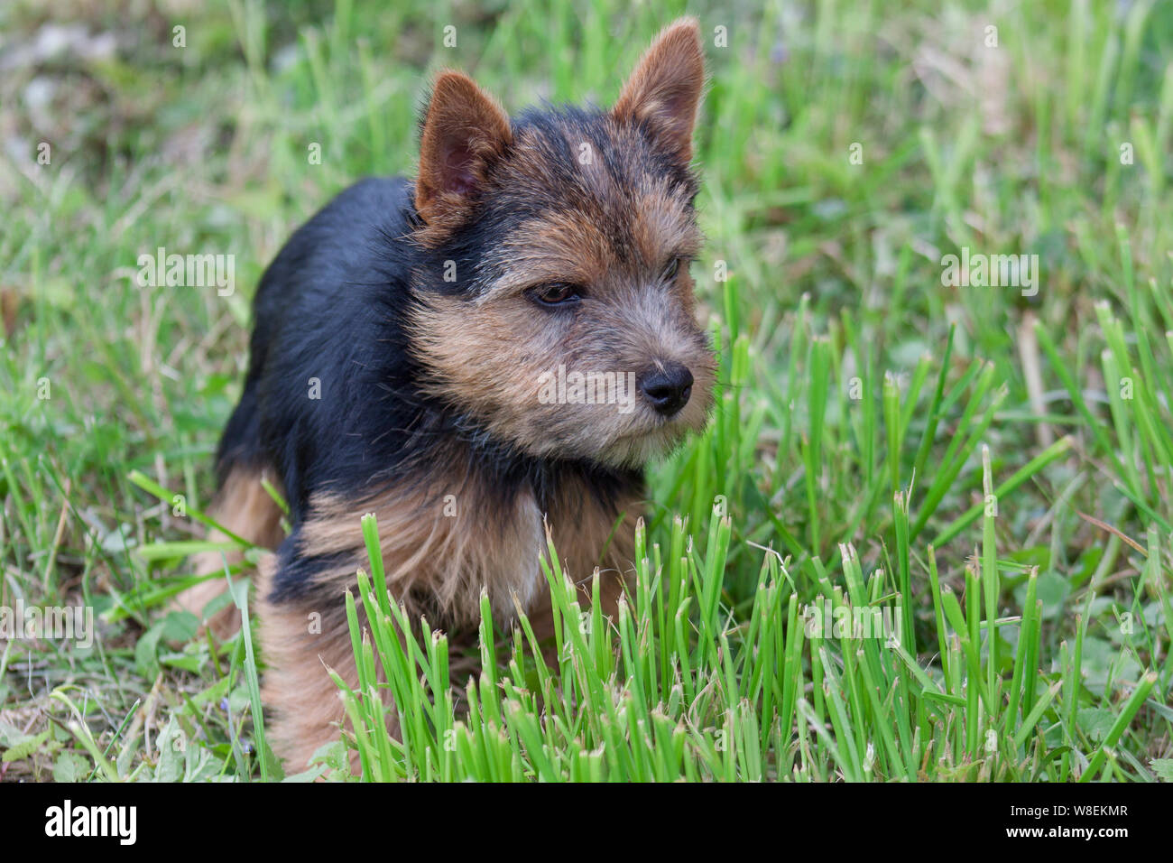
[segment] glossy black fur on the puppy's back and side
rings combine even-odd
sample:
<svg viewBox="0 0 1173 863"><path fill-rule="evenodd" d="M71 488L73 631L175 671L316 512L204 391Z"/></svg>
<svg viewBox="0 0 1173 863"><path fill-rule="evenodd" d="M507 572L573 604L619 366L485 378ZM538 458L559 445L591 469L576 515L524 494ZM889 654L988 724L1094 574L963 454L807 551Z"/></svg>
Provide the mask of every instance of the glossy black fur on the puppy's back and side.
<svg viewBox="0 0 1173 863"><path fill-rule="evenodd" d="M408 232L411 201L406 180L352 186L293 234L257 290L249 375L218 473L272 465L294 521L313 490L359 487L393 467L415 419L414 393L395 391L414 371L401 328L413 261L409 245L388 242ZM314 383L320 398L310 397Z"/></svg>

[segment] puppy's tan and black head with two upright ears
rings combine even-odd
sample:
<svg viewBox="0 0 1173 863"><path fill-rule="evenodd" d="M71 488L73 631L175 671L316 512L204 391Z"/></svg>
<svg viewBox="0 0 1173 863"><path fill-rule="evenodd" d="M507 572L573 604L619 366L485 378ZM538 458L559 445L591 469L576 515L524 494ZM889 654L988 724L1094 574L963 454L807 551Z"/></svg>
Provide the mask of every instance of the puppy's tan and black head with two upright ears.
<svg viewBox="0 0 1173 863"><path fill-rule="evenodd" d="M542 458L639 465L704 427L716 364L694 316L690 170L699 29L665 29L606 112L510 122L435 82L420 146L413 349L426 389Z"/></svg>

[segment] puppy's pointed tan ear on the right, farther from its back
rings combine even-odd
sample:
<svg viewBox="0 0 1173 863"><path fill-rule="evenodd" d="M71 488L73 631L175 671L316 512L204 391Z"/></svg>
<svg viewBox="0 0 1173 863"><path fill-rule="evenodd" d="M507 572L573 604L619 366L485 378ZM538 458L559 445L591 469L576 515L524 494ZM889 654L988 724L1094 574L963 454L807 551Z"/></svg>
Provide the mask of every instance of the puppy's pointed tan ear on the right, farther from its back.
<svg viewBox="0 0 1173 863"><path fill-rule="evenodd" d="M664 29L623 86L611 115L644 122L682 162L692 159L692 127L705 86L700 25L682 18Z"/></svg>

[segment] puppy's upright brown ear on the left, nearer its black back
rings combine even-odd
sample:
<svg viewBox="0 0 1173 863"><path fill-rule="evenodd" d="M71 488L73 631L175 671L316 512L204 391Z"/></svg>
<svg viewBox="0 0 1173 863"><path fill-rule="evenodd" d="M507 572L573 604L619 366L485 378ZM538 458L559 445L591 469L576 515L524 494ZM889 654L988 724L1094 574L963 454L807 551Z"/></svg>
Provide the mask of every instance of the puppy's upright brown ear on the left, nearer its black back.
<svg viewBox="0 0 1173 863"><path fill-rule="evenodd" d="M415 209L429 224L463 211L489 162L513 141L509 117L459 72L436 77L420 137Z"/></svg>

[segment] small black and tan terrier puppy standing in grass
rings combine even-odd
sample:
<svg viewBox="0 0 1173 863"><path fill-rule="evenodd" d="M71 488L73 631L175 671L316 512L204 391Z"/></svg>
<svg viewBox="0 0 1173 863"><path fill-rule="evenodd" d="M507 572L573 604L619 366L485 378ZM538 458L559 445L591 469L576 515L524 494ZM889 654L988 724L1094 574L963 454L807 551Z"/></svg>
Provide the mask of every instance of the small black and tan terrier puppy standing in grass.
<svg viewBox="0 0 1173 863"><path fill-rule="evenodd" d="M548 615L547 526L584 602L598 568L613 607L643 466L712 406L689 276L704 79L692 19L610 110L510 120L443 72L415 181L351 187L266 270L213 515L276 550L260 566L264 695L297 768L343 719L323 666L354 677L344 594L367 565L364 513L394 599L432 626L473 623L482 591L501 621L515 598ZM287 537L263 477L284 490ZM184 606L199 614L221 584Z"/></svg>

